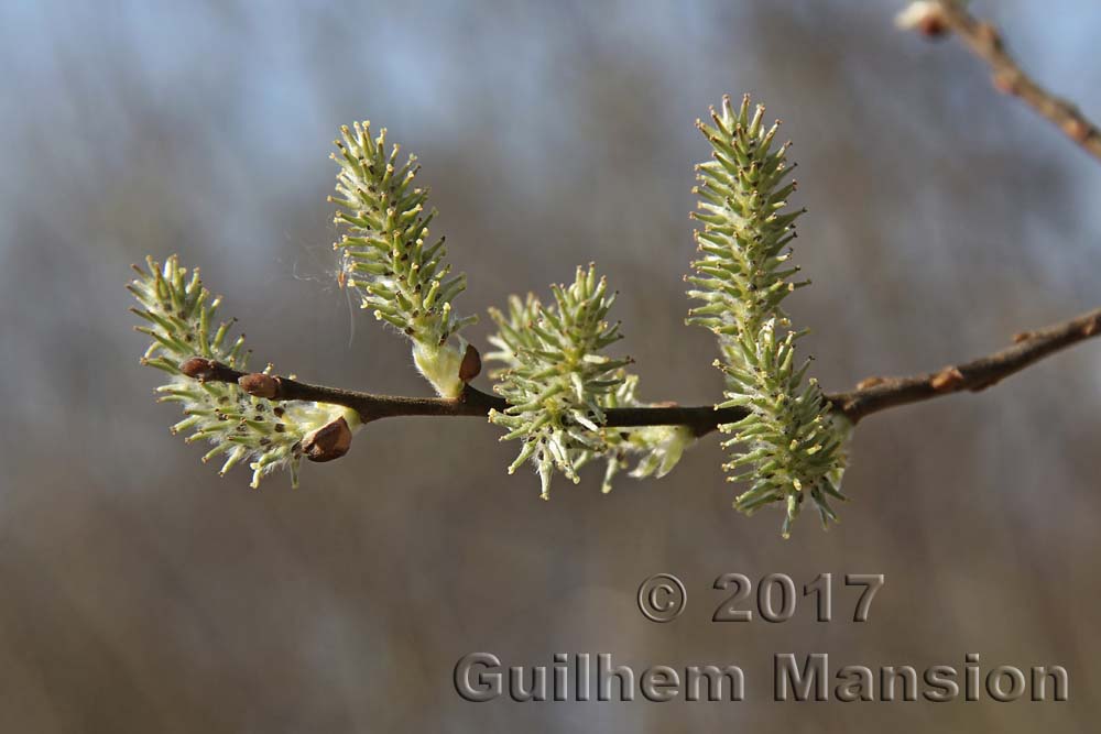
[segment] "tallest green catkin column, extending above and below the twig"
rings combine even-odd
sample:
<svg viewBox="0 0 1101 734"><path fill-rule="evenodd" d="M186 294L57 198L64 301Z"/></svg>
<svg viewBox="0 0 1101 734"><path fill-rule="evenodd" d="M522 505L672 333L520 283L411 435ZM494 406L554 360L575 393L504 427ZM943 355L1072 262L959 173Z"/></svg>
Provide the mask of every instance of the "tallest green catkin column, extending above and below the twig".
<svg viewBox="0 0 1101 734"><path fill-rule="evenodd" d="M687 322L718 338L716 365L726 377L727 399L716 408L749 410L719 427L732 435L723 443L732 450L723 464L728 480L749 484L734 507L752 514L780 504L788 537L807 499L824 527L836 522L829 499L844 499L840 480L851 426L831 415L817 381L805 380L808 361L795 359L805 332L792 329L781 305L808 283L791 280L798 267L789 264L788 245L803 210L787 204L794 166L786 162L787 144L775 142L780 123L765 127L763 119L764 108L751 109L746 96L737 111L724 98L710 123L697 123L712 155L696 167L693 190L700 200L693 216L702 224L695 232L700 258L686 281L694 286L688 295L701 305Z"/></svg>

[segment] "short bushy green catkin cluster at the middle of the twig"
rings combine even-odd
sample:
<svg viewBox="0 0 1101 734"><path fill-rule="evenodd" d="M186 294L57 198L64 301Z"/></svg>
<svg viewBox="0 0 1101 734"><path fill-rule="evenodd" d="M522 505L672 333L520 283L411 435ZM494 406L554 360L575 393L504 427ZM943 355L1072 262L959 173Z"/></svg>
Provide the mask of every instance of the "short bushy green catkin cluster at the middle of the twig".
<svg viewBox="0 0 1101 734"><path fill-rule="evenodd" d="M644 405L635 397L637 377L624 369L630 360L602 354L620 339L619 324L607 320L615 294L591 265L552 292L553 304L528 294L510 298L506 314L490 310L499 329L490 342L498 351L486 358L504 364L490 376L500 380L494 391L510 407L492 410L489 419L508 429L502 440L523 441L509 473L531 460L544 500L556 471L577 482L577 470L597 458L606 461L603 492L630 456L641 457L633 476L663 476L691 442L687 428L603 427L604 410Z"/></svg>

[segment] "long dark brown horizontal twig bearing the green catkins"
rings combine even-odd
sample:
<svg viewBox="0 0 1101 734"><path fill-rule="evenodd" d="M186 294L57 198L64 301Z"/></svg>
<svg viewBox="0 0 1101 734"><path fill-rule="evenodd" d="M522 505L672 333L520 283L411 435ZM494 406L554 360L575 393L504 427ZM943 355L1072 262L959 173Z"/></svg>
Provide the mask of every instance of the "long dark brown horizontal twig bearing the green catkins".
<svg viewBox="0 0 1101 734"><path fill-rule="evenodd" d="M857 390L828 395L833 409L852 423L886 408L927 401L962 391L978 392L1020 372L1029 364L1101 333L1101 308L1039 331L1020 333L1014 344L1002 351L970 362L949 365L937 372L911 377L872 377ZM203 381L236 382L258 397L274 401L313 401L342 405L359 413L364 423L396 416L477 416L484 418L491 409L504 410L503 398L467 385L457 398L401 397L374 395L340 387L310 385L288 377L262 373L244 373L214 360L193 358L181 365L184 374ZM743 408L716 410L710 405L683 407L677 405L609 408L609 428L637 426L688 426L693 434L705 436L720 424L733 423L745 416Z"/></svg>

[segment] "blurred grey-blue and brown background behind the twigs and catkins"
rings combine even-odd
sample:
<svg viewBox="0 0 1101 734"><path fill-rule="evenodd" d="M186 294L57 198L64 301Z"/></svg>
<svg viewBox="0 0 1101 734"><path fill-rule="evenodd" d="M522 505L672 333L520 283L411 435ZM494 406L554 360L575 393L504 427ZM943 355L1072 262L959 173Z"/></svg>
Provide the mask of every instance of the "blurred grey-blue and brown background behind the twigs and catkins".
<svg viewBox="0 0 1101 734"><path fill-rule="evenodd" d="M418 154L484 313L595 260L642 394L712 402L683 326L693 127L751 91L796 145L792 298L828 390L940 368L1099 305L1101 166L902 2L57 3L0 8L0 720L12 732L1094 731L1101 347L860 426L852 502L730 508L713 437L661 481L509 478L465 420L368 426L344 460L248 489L168 434L129 263L177 252L257 360L421 395L402 339L335 284L341 123ZM1090 0L977 2L1038 79L1101 117ZM469 336L484 344L488 325ZM482 383L482 386L487 386ZM635 606L674 572L672 624ZM884 573L866 624L712 624L723 572ZM851 590L849 590L851 591ZM610 653L741 665L748 701L473 704L455 662ZM771 702L775 653L835 666L1059 664L1064 704Z"/></svg>

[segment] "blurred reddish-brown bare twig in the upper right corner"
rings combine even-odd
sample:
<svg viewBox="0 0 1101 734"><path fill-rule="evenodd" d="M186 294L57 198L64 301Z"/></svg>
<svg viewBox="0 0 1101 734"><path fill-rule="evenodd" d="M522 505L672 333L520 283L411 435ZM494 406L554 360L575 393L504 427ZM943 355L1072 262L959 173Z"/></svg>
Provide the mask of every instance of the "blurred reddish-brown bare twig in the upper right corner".
<svg viewBox="0 0 1101 734"><path fill-rule="evenodd" d="M957 0L939 0L938 4L939 21L991 67L994 87L1020 97L1040 116L1058 125L1065 135L1093 157L1101 160L1101 130L1082 116L1075 105L1053 95L1025 74L1006 52L1005 42L998 29L977 19Z"/></svg>

